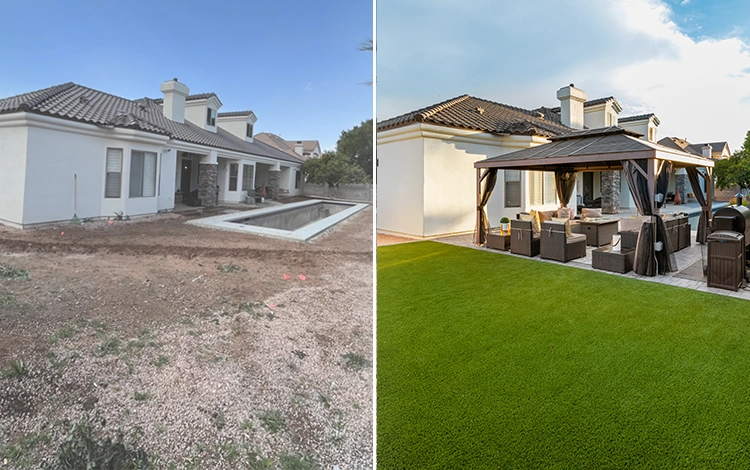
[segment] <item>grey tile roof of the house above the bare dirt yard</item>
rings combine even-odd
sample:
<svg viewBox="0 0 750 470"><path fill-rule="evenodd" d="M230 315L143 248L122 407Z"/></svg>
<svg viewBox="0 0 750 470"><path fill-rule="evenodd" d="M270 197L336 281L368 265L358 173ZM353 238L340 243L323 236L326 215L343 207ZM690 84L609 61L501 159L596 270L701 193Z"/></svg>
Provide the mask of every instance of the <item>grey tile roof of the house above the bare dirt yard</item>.
<svg viewBox="0 0 750 470"><path fill-rule="evenodd" d="M183 142L287 162L302 162L300 158L262 142L247 142L220 127L214 133L188 121L179 123L167 119L156 100L129 100L72 82L0 99L0 114L22 111L104 128L138 129Z"/></svg>

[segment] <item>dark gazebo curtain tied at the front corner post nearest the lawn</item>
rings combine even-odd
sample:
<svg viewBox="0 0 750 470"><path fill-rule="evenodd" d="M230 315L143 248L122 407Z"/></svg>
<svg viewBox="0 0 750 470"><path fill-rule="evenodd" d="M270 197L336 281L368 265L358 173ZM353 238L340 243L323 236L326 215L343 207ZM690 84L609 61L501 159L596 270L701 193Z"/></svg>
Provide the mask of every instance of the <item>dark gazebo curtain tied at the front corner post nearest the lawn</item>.
<svg viewBox="0 0 750 470"><path fill-rule="evenodd" d="M661 217L655 216L653 212L653 206L651 203L649 191L648 191L648 179L638 170L640 168L643 172L646 172L646 165L648 160L623 160L622 166L625 172L625 180L628 183L630 192L633 195L633 201L635 202L638 211L645 215L650 216L651 220L645 222L638 233L638 241L635 248L635 260L633 262L633 270L637 274L654 276L657 271L659 274L666 272L673 272L676 270L676 263L672 259L669 253L672 251L669 237L667 237L667 230L664 227L664 221ZM669 174L671 172L672 165L666 163L662 165L661 172L657 175L657 180L654 182L656 187L659 189L659 181L665 178L669 182ZM666 191L666 186L664 187ZM662 193L664 194L664 193ZM654 242L662 242L662 249L655 251Z"/></svg>

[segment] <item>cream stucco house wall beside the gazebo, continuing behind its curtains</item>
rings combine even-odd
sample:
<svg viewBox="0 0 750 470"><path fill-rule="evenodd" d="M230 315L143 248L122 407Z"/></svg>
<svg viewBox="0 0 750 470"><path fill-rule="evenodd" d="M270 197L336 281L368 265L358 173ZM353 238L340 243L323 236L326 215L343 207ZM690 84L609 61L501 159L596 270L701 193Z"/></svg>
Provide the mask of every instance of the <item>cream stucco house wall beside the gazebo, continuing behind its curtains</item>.
<svg viewBox="0 0 750 470"><path fill-rule="evenodd" d="M380 132L377 229L415 237L473 231L477 206L474 162L545 142L538 137L501 137L422 124ZM521 207L505 207L504 182L504 172L498 171L486 206L491 225L528 208L528 197L522 198ZM523 177L521 184L523 195L528 187Z"/></svg>

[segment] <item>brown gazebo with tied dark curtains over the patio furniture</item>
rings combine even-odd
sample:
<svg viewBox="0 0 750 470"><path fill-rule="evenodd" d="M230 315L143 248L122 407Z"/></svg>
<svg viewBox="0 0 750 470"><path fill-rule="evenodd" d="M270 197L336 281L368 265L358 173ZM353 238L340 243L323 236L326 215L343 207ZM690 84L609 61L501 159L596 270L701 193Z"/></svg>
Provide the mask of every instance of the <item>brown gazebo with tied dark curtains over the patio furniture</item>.
<svg viewBox="0 0 750 470"><path fill-rule="evenodd" d="M571 132L550 138L550 143L474 163L477 169L477 229L475 243L484 243L489 223L484 207L497 180L497 170L552 171L555 173L557 196L567 206L580 171L623 170L628 188L638 211L651 220L643 224L638 236L634 270L653 276L657 266L664 273L674 271L674 261L667 249L654 251L654 241L669 246L661 217L657 217L664 202L672 170L685 168L696 200L701 206L696 241L706 243L706 227L711 214L713 166L710 158L696 156L663 145L639 139L641 135L612 126ZM705 172L698 171L705 168ZM700 179L706 181L705 195ZM484 184L483 184L484 183ZM657 197L661 194L661 197Z"/></svg>

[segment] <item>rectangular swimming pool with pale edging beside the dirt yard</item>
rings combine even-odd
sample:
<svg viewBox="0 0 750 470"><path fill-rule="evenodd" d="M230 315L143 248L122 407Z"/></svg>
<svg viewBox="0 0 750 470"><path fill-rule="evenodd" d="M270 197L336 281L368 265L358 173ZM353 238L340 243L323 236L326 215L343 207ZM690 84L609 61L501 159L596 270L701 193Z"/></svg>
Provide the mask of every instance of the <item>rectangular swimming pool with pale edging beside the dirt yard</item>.
<svg viewBox="0 0 750 470"><path fill-rule="evenodd" d="M307 241L365 207L367 204L312 199L195 219L188 223L264 237Z"/></svg>

